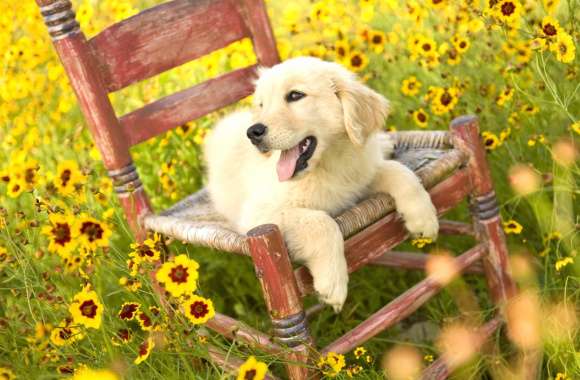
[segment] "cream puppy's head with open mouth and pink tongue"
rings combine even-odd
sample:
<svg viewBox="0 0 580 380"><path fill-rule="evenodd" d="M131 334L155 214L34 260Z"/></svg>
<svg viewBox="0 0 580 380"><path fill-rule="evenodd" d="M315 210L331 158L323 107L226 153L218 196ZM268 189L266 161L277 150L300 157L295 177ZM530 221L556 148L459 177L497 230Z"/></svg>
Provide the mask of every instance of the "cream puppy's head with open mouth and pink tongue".
<svg viewBox="0 0 580 380"><path fill-rule="evenodd" d="M247 130L262 152L280 150L280 181L305 175L338 139L363 146L381 128L389 104L336 63L294 58L260 69L254 120Z"/></svg>

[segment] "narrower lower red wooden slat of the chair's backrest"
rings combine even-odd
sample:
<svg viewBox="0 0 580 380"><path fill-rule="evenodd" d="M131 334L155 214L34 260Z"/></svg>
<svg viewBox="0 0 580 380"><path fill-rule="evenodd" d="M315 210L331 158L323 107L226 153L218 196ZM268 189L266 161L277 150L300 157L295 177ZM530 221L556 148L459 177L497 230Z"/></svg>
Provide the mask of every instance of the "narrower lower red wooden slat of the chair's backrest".
<svg viewBox="0 0 580 380"><path fill-rule="evenodd" d="M249 96L256 66L210 79L166 96L121 118L129 145L139 144L190 120Z"/></svg>

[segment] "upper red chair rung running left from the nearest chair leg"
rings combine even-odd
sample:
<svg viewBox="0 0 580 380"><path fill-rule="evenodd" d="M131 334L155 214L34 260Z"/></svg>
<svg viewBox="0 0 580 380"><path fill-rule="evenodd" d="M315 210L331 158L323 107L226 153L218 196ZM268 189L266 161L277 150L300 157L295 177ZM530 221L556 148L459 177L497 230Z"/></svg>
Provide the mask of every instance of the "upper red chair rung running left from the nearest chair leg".
<svg viewBox="0 0 580 380"><path fill-rule="evenodd" d="M268 353L276 354L284 351L284 348L272 342L266 334L244 326L242 322L224 314L216 313L212 319L207 321L206 326L228 339L240 340Z"/></svg>

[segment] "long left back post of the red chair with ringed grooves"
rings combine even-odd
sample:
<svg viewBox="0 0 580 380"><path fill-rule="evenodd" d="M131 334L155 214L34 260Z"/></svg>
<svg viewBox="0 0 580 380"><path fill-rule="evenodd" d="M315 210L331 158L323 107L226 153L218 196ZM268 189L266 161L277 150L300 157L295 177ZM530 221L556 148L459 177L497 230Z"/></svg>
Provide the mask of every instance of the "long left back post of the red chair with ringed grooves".
<svg viewBox="0 0 580 380"><path fill-rule="evenodd" d="M107 96L95 59L75 20L69 0L36 0L54 48L69 77L80 108L101 152L115 191L137 239L145 236L139 219L151 212L132 163L126 136Z"/></svg>

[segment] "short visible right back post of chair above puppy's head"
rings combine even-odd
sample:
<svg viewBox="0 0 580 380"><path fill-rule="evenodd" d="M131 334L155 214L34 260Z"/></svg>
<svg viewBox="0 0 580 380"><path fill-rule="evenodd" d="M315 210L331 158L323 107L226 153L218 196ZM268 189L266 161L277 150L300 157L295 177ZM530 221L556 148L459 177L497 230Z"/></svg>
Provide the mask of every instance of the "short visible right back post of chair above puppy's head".
<svg viewBox="0 0 580 380"><path fill-rule="evenodd" d="M262 66L280 63L276 39L264 0L242 0L241 13L250 30L254 52Z"/></svg>

